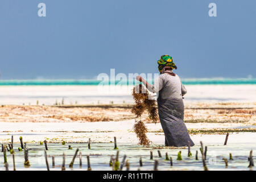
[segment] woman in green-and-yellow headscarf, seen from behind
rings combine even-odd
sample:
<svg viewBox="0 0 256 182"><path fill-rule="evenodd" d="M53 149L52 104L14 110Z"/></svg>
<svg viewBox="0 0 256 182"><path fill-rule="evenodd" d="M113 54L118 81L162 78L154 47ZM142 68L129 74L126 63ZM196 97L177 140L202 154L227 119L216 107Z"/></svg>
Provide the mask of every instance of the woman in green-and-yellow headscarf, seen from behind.
<svg viewBox="0 0 256 182"><path fill-rule="evenodd" d="M166 137L166 146L187 146L188 141L193 146L194 143L183 122L183 96L187 90L179 76L172 72L174 68L177 69L172 57L163 55L158 60L158 69L161 75L155 79L154 85L148 84L141 76L137 76L136 79L146 85L150 92L158 95L158 114Z"/></svg>

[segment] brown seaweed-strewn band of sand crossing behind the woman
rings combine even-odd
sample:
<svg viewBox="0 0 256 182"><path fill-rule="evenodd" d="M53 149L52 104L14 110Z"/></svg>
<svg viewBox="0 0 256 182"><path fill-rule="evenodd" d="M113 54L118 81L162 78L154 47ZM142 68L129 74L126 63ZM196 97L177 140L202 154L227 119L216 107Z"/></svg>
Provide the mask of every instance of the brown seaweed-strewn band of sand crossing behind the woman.
<svg viewBox="0 0 256 182"><path fill-rule="evenodd" d="M105 122L134 119L131 104L121 105L2 105L0 122ZM185 123L241 123L255 125L256 102L185 103ZM150 123L147 114L142 121ZM159 121L158 121L159 122Z"/></svg>

